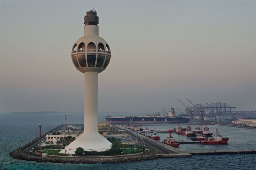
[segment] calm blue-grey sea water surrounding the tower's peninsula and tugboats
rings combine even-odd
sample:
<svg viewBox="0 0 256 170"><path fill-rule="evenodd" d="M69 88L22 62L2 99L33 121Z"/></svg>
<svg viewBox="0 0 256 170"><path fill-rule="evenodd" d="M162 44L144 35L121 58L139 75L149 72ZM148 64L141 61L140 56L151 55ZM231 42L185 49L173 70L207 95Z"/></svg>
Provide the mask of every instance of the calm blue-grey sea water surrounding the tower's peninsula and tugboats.
<svg viewBox="0 0 256 170"><path fill-rule="evenodd" d="M42 124L42 131L52 129L58 124L63 124L64 115L68 117L68 124L82 124L82 113L58 113L58 114L12 114L2 113L0 115L0 169L1 170L215 170L215 169L247 169L255 170L256 155L206 155L192 156L191 158L160 158L142 162L117 163L117 164L53 164L36 163L23 160L16 160L9 157L8 153L15 148L32 140L38 135L38 124ZM99 120L103 120L99 116ZM185 125L183 125L185 127ZM150 129L167 130L175 126L148 126ZM204 125L203 125L204 127ZM248 149L256 148L256 130L241 129L225 126L208 125L210 131L215 132L216 128L219 134L229 137L228 145L200 145L200 144L181 144L183 151L192 150L230 150L230 149ZM192 129L195 125L192 125ZM172 134L179 140L189 140L189 137ZM164 140L168 134L159 133L161 140Z"/></svg>

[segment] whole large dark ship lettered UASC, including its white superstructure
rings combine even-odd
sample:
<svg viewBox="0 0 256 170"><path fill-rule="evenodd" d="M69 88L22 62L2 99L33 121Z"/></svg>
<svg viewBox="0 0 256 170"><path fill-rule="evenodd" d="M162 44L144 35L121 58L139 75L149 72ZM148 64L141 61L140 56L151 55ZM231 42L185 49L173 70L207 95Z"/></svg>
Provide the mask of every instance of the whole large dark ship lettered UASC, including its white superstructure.
<svg viewBox="0 0 256 170"><path fill-rule="evenodd" d="M139 117L111 117L107 114L105 116L106 123L111 124L167 124L167 123L188 123L189 119L183 117L176 117L174 108L168 115L163 114L144 114Z"/></svg>

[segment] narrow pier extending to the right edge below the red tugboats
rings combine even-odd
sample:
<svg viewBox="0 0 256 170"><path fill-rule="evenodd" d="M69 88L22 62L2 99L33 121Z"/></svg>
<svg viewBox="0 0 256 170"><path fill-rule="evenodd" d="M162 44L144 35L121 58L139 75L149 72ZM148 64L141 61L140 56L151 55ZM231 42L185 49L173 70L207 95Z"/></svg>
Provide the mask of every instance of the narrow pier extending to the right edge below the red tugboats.
<svg viewBox="0 0 256 170"><path fill-rule="evenodd" d="M249 153L256 153L254 150L225 150L225 151L191 151L187 152L191 155L225 155L225 154L249 154Z"/></svg>

